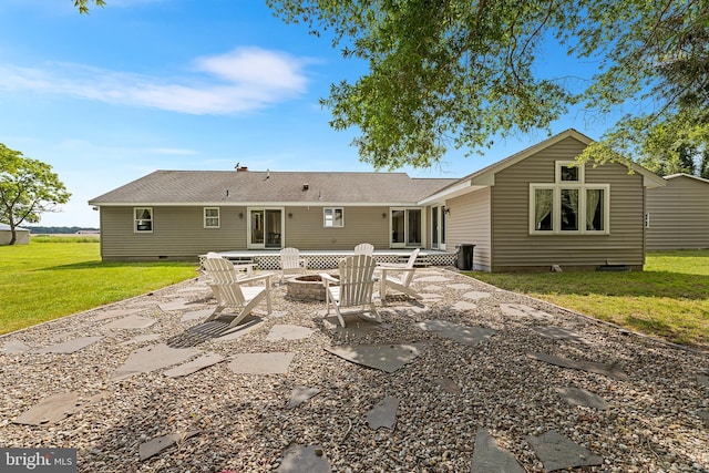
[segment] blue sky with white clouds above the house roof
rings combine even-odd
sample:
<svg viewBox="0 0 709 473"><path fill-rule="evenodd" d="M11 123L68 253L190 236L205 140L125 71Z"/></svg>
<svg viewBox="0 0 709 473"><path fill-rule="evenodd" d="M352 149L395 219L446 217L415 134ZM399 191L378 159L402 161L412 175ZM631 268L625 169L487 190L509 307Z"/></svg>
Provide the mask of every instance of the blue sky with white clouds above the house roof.
<svg viewBox="0 0 709 473"><path fill-rule="evenodd" d="M88 200L155 169L373 171L350 146L357 131L331 130L318 103L366 64L259 0L107 0L90 16L72 0L2 0L0 18L0 143L72 193L39 225L97 227ZM605 126L569 114L553 132ZM399 171L461 177L545 137Z"/></svg>

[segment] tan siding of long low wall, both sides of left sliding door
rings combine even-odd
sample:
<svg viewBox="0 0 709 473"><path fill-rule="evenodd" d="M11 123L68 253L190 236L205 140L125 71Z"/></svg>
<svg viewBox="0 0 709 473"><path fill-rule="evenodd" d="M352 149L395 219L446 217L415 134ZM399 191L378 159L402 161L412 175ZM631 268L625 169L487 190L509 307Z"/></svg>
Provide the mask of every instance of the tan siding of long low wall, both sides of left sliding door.
<svg viewBox="0 0 709 473"><path fill-rule="evenodd" d="M101 207L104 260L197 260L207 251L246 249L246 207L219 207L220 227L204 228L204 207L152 206L153 233L137 234L133 230L133 208ZM282 245L312 250L352 249L366 241L376 249L389 248L389 207L345 207L342 228L325 228L322 208L286 207Z"/></svg>

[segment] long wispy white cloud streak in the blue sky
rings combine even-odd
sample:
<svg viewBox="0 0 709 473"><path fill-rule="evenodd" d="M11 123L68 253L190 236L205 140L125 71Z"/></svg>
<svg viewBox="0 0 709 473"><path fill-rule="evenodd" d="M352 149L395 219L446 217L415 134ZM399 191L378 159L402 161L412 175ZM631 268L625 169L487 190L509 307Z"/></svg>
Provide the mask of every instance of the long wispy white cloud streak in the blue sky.
<svg viewBox="0 0 709 473"><path fill-rule="evenodd" d="M306 90L306 61L259 48L199 58L182 79L132 74L80 64L0 65L0 90L70 95L188 114L253 112Z"/></svg>

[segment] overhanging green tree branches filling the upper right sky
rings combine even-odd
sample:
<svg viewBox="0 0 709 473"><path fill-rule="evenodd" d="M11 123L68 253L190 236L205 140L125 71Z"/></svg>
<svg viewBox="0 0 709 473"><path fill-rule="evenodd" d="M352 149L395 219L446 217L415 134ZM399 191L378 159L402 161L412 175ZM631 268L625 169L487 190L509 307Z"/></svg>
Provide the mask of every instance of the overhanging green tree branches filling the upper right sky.
<svg viewBox="0 0 709 473"><path fill-rule="evenodd" d="M85 12L91 1L74 2ZM709 0L266 2L368 62L322 104L336 130L359 128L354 144L376 168L427 167L450 147L549 130L571 105L626 113L589 148L597 161L653 152L668 131L674 150L709 141ZM547 70L551 48L596 72Z"/></svg>

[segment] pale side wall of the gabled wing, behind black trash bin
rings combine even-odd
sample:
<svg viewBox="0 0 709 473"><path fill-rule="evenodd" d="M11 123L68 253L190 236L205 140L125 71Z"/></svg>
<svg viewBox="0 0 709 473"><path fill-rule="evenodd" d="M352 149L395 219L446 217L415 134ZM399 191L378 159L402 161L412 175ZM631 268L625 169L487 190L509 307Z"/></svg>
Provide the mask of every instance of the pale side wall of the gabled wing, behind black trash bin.
<svg viewBox="0 0 709 473"><path fill-rule="evenodd" d="M491 202L490 187L448 200L445 247L454 251L458 245L473 244L473 266L490 270L491 264Z"/></svg>

